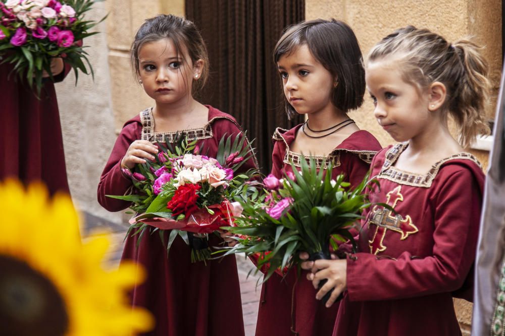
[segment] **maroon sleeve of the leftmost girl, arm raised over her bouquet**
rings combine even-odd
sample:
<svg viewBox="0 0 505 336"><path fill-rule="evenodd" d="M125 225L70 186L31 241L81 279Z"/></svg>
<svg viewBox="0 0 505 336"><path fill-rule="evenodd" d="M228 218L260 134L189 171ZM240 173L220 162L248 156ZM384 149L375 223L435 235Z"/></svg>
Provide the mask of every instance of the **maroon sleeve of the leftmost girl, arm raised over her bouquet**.
<svg viewBox="0 0 505 336"><path fill-rule="evenodd" d="M140 139L141 126L138 123L127 124L114 144L100 182L98 183L98 203L109 211L120 211L130 206L130 202L108 197L107 195L124 195L132 186L131 179L121 171L123 159L130 144Z"/></svg>

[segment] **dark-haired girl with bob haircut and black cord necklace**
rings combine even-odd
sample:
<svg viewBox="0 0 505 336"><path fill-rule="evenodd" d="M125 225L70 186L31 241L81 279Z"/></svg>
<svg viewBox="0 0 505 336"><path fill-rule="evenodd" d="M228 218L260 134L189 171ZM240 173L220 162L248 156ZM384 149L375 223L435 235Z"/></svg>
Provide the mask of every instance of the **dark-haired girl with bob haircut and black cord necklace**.
<svg viewBox="0 0 505 336"><path fill-rule="evenodd" d="M313 20L288 27L274 51L288 116L307 116L292 129L273 135L271 177L291 172L290 162L315 156L319 169L331 162L333 177L343 173L352 185L365 177L377 140L360 130L347 112L363 103L365 71L354 32L338 20ZM316 291L296 270L274 274L263 284L256 335L330 335L337 305L314 300ZM302 277L306 276L306 272Z"/></svg>

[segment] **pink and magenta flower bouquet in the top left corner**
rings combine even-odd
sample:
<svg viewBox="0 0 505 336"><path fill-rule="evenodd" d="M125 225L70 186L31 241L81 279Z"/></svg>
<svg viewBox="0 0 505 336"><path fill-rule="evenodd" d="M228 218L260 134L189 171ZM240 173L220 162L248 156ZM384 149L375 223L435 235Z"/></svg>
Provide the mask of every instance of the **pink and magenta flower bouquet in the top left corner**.
<svg viewBox="0 0 505 336"><path fill-rule="evenodd" d="M100 1L100 0L95 0ZM75 72L93 69L81 41L99 22L85 21L93 0L2 0L0 2L0 61L14 64L14 72L40 95L44 72L53 79L51 60L62 57Z"/></svg>

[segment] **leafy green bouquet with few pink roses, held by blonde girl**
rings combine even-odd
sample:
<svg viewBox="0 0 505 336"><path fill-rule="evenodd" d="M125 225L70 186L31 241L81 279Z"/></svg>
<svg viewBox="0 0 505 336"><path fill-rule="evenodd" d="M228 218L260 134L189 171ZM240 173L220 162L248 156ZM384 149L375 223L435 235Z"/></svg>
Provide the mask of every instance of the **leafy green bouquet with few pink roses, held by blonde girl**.
<svg viewBox="0 0 505 336"><path fill-rule="evenodd" d="M311 158L309 163L301 161L300 171L292 168L293 173L281 180L267 176L265 192L242 202L241 217L225 228L236 235L238 244L224 255L245 253L257 259L258 269L266 274L263 281L298 265L299 252L309 252L311 260L330 259L330 247L337 250L338 241L355 247L349 230L370 206L364 193L367 178L351 189L343 175L331 178L331 164L326 172L318 172Z"/></svg>

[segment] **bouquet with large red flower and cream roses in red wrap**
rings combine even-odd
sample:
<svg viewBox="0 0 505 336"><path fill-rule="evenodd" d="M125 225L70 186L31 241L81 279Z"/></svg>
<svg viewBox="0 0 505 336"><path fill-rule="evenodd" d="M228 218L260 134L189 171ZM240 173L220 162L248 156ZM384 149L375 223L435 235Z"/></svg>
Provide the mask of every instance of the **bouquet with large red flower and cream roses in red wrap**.
<svg viewBox="0 0 505 336"><path fill-rule="evenodd" d="M154 227L163 241L164 231L172 230L167 253L179 235L191 247L192 262L209 259L208 234L233 225L233 218L241 212L239 204L230 200L245 199L256 190L248 183L256 171L235 174L254 155L245 139L237 136L232 142L223 137L212 158L198 154L196 142L188 143L181 136L176 146L158 143L155 161L137 164L133 172L123 169L135 191L108 196L132 202L130 209L138 215L130 220L127 234L139 234L140 241Z"/></svg>

